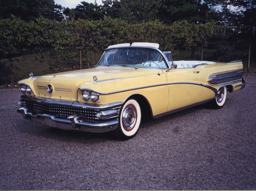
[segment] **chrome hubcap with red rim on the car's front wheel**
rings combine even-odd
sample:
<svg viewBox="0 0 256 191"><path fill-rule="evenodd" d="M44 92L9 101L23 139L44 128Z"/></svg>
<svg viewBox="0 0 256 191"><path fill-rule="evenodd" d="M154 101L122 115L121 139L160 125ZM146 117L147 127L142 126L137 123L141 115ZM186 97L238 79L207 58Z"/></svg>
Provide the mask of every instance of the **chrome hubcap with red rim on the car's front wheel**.
<svg viewBox="0 0 256 191"><path fill-rule="evenodd" d="M124 112L123 112L123 115L122 115L122 122L123 122L123 127L127 131L130 131L135 126L136 117L137 117L136 115L137 115L136 108L132 104L128 105L124 109Z"/></svg>

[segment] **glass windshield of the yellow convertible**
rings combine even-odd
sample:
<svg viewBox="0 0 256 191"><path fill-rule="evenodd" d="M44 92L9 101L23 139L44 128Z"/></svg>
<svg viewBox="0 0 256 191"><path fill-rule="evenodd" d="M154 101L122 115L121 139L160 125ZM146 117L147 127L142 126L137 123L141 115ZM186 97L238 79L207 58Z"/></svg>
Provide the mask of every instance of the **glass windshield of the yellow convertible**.
<svg viewBox="0 0 256 191"><path fill-rule="evenodd" d="M114 48L106 50L97 66L168 68L162 54L152 48Z"/></svg>

